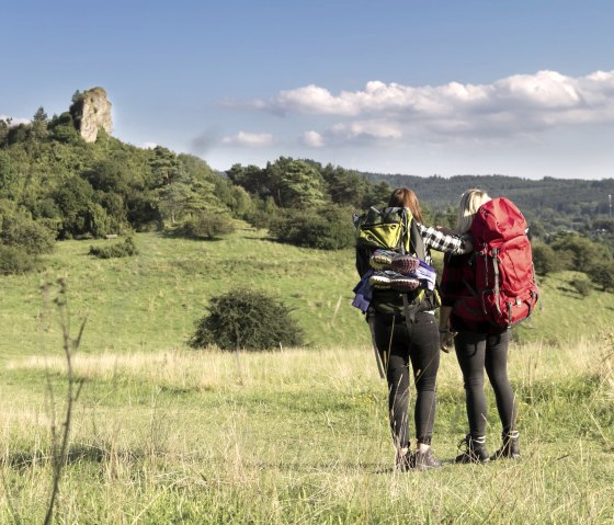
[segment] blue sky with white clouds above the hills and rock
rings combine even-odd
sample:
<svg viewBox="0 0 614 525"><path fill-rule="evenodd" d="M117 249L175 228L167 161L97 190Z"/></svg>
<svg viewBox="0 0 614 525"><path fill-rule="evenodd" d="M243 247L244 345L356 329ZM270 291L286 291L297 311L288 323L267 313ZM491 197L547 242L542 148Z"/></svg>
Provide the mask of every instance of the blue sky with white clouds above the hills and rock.
<svg viewBox="0 0 614 525"><path fill-rule="evenodd" d="M103 87L114 133L213 168L614 176L614 2L4 4L0 117Z"/></svg>

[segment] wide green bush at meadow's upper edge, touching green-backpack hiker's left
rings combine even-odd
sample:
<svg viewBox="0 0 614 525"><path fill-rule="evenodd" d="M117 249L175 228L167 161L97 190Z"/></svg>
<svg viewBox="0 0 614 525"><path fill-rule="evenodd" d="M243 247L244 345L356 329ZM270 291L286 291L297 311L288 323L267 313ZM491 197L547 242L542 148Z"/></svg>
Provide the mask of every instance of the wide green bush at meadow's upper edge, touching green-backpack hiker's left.
<svg viewBox="0 0 614 525"><path fill-rule="evenodd" d="M352 215L341 207L287 210L271 222L269 231L282 242L320 250L341 250L355 242Z"/></svg>

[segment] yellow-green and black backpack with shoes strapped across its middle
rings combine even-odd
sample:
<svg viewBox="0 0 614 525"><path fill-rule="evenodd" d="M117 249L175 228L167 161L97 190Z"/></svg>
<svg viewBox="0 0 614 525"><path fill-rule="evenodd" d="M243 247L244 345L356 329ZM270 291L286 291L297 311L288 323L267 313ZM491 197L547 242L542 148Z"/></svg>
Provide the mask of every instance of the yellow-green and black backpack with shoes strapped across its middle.
<svg viewBox="0 0 614 525"><path fill-rule="evenodd" d="M425 260L424 242L408 208L371 207L355 220L356 269L361 277L369 269L369 258L375 250L390 250ZM400 293L394 289L373 289L369 311L389 316L403 316L412 321L420 311L434 310L441 306L436 289L418 288Z"/></svg>

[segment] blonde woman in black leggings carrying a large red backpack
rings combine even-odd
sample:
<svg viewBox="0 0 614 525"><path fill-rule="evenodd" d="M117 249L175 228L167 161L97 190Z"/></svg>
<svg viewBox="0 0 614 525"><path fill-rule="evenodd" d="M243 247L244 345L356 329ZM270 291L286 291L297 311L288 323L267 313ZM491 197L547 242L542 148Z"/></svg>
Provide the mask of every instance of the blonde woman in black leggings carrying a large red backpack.
<svg viewBox="0 0 614 525"><path fill-rule="evenodd" d="M538 297L526 232L526 221L511 201L491 199L481 190L461 197L456 233L471 235L474 252L444 258L440 310L440 346L448 352L454 340L469 423L456 463L520 458L508 347L510 328L531 315ZM502 425L502 445L492 456L486 447L485 368Z"/></svg>

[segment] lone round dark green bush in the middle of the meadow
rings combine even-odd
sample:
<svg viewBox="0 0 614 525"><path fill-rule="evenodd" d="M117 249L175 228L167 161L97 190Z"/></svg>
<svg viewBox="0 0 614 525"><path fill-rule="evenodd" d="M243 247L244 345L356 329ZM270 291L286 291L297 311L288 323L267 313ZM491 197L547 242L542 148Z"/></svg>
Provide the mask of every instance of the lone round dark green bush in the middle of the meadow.
<svg viewBox="0 0 614 525"><path fill-rule="evenodd" d="M209 313L196 321L187 344L193 349L272 350L303 344L303 330L291 309L253 290L232 290L211 299Z"/></svg>

